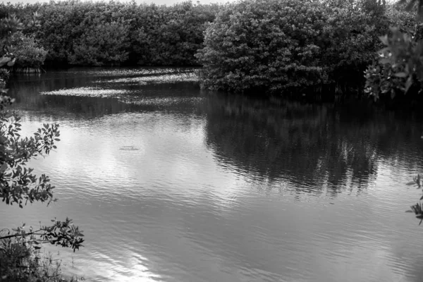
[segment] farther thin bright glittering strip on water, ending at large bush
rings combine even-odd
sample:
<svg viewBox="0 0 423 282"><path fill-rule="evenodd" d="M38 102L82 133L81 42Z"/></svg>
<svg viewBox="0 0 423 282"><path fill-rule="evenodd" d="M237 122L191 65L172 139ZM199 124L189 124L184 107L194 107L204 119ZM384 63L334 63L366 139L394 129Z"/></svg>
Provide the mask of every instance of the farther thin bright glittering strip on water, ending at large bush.
<svg viewBox="0 0 423 282"><path fill-rule="evenodd" d="M140 76L135 78L118 78L114 80L102 80L108 83L130 83L137 85L175 83L175 82L197 82L198 77L195 73L176 73L167 75ZM98 81L100 82L100 81Z"/></svg>

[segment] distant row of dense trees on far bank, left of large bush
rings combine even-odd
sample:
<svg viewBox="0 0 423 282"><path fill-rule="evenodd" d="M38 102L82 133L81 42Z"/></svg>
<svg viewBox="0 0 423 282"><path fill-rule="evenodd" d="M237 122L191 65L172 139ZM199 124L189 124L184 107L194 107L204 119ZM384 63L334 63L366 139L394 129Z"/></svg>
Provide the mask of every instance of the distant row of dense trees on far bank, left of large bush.
<svg viewBox="0 0 423 282"><path fill-rule="evenodd" d="M195 66L203 32L219 6L93 1L0 4L48 51L48 65ZM37 23L37 24L35 24Z"/></svg>

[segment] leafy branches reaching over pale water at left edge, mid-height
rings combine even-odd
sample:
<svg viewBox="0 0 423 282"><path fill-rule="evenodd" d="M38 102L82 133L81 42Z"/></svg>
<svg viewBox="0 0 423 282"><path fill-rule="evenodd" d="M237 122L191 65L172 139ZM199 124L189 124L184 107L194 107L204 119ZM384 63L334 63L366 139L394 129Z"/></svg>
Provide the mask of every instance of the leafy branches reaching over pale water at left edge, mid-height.
<svg viewBox="0 0 423 282"><path fill-rule="evenodd" d="M7 99L7 98L4 98ZM20 116L13 111L0 112L0 198L6 204L20 207L34 201L51 202L52 186L49 177L35 176L27 161L49 154L59 141L59 125L44 124L32 137L21 137Z"/></svg>

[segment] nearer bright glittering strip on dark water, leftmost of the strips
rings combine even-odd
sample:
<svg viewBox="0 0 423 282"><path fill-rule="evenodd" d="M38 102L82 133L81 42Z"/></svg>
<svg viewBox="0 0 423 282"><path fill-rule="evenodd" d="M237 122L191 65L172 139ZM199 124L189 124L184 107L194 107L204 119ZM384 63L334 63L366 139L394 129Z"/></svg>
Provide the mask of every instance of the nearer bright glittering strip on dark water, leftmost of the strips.
<svg viewBox="0 0 423 282"><path fill-rule="evenodd" d="M41 92L42 95L63 95L63 96L83 96L83 97L115 97L120 98L120 95L128 93L128 90L103 89L99 87L78 87L78 88L63 88L61 90Z"/></svg>

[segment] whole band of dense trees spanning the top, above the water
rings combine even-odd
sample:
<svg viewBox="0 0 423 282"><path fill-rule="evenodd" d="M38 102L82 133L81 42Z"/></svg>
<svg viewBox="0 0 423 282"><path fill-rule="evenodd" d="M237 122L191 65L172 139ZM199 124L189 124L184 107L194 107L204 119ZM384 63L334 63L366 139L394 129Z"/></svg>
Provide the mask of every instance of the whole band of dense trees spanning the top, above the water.
<svg viewBox="0 0 423 282"><path fill-rule="evenodd" d="M21 68L44 57L56 66L202 66L204 88L295 97L423 89L423 25L384 0L70 0L0 4L0 19Z"/></svg>

